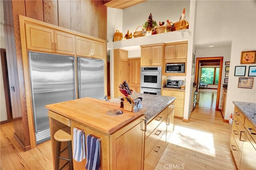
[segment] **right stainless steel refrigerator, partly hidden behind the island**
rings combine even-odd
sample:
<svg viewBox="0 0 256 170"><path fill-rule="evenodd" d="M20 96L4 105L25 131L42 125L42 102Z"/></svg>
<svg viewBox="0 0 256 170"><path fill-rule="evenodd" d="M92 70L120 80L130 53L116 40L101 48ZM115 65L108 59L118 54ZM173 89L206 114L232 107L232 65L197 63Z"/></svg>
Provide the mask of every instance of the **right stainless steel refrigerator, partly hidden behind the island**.
<svg viewBox="0 0 256 170"><path fill-rule="evenodd" d="M78 97L103 99L104 97L104 60L77 58Z"/></svg>

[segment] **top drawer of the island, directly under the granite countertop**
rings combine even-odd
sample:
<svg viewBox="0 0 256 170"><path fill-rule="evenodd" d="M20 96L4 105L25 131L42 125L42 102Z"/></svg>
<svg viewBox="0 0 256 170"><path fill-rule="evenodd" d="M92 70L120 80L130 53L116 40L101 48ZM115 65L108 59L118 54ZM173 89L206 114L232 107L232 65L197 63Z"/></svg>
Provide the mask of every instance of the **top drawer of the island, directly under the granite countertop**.
<svg viewBox="0 0 256 170"><path fill-rule="evenodd" d="M167 116L168 109L164 109L161 113L159 113L152 121L147 124L147 131L145 133L145 139L158 127L158 125L165 119Z"/></svg>

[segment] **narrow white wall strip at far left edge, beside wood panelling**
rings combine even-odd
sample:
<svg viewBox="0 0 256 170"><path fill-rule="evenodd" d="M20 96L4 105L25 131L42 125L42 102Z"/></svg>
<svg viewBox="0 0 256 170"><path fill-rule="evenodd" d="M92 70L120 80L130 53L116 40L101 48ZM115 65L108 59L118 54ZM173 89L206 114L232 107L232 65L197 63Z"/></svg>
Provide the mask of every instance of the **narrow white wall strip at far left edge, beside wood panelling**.
<svg viewBox="0 0 256 170"><path fill-rule="evenodd" d="M0 1L0 48L5 49L4 42L4 10L3 10L3 2ZM4 81L3 81L3 72L2 72L2 63L0 63L0 121L7 120L7 112L6 112L6 103L4 96Z"/></svg>

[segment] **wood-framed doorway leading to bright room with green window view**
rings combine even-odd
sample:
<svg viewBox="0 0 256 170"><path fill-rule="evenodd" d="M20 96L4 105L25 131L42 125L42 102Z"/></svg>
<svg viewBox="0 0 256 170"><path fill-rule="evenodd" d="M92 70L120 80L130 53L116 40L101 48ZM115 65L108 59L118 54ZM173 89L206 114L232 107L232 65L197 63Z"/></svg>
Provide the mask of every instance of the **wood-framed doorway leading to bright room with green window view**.
<svg viewBox="0 0 256 170"><path fill-rule="evenodd" d="M198 106L220 111L222 67L223 57L202 57L196 59L195 83L198 92Z"/></svg>

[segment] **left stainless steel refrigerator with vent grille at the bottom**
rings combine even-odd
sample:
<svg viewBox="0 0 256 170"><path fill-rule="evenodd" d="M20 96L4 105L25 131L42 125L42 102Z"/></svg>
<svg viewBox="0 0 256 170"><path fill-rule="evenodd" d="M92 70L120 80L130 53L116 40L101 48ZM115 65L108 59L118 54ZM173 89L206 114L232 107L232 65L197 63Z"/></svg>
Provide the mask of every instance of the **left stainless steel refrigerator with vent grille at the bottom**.
<svg viewBox="0 0 256 170"><path fill-rule="evenodd" d="M29 52L36 144L50 139L45 105L76 99L74 57Z"/></svg>

